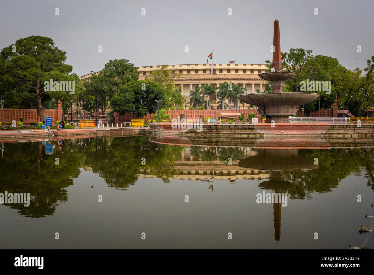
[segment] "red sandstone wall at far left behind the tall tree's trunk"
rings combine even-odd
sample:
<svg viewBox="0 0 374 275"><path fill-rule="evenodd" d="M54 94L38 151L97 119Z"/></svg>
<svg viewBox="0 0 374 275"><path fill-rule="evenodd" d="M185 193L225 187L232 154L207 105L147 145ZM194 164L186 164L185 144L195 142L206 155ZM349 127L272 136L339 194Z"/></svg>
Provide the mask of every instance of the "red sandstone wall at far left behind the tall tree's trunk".
<svg viewBox="0 0 374 275"><path fill-rule="evenodd" d="M52 116L53 120L57 120L57 110L48 109L43 111L44 116ZM12 120L19 121L23 117L23 124L30 125L30 122L36 122L36 109L0 109L1 126L5 126L5 122Z"/></svg>

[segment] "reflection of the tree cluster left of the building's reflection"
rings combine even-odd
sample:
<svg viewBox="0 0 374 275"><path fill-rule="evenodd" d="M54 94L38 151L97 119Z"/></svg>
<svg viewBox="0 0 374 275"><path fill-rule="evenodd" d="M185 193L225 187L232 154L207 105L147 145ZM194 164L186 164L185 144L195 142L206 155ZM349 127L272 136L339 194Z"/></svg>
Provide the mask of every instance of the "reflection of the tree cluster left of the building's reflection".
<svg viewBox="0 0 374 275"><path fill-rule="evenodd" d="M169 182L175 158L184 150L183 146L148 142L146 136L92 138L89 143L85 165L98 172L109 187L123 190L138 180L141 168L151 169L157 177Z"/></svg>

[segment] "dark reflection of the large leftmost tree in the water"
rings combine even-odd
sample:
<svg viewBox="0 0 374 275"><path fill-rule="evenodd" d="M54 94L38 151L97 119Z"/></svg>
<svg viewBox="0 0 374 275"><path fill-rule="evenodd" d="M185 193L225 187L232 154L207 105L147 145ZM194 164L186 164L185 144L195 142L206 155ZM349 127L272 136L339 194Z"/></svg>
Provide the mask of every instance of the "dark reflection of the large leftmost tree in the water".
<svg viewBox="0 0 374 275"><path fill-rule="evenodd" d="M72 145L67 144L69 152ZM27 217L53 215L56 205L67 201L64 188L79 175L80 153L73 150L64 154L55 148L52 155L46 155L41 142L5 143L4 147L6 154L0 159L0 193L30 193L30 206L6 205ZM60 159L59 165L55 165L55 158Z"/></svg>

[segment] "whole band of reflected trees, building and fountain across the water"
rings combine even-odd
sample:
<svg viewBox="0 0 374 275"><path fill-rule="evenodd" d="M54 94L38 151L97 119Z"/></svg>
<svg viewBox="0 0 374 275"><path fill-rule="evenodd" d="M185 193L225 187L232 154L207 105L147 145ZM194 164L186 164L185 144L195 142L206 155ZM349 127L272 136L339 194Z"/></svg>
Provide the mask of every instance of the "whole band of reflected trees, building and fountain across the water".
<svg viewBox="0 0 374 275"><path fill-rule="evenodd" d="M266 180L260 188L288 191L290 199L309 199L314 192L331 192L342 178L364 169L374 189L373 148L253 149L250 147L177 146L140 137L101 137L4 143L0 159L0 193L30 193L30 206L7 205L27 217L53 215L67 202L67 187L82 169L99 174L108 187L128 190L138 178L204 180L213 192L214 180ZM59 164L56 164L59 158ZM314 165L318 158L319 165ZM229 163L230 162L230 163ZM276 239L280 236L281 207L274 205ZM278 233L279 232L279 233Z"/></svg>

